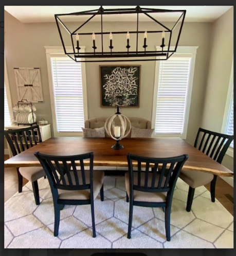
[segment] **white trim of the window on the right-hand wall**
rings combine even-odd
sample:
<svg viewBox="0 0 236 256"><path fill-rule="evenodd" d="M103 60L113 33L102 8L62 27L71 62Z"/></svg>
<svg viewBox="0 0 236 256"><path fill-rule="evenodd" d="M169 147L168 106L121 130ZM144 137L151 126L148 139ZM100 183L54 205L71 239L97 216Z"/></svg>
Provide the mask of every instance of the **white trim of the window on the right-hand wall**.
<svg viewBox="0 0 236 256"><path fill-rule="evenodd" d="M226 103L225 103L225 112L224 112L222 128L221 128L222 133L225 133L227 122L228 122L229 108L230 108L230 103L231 103L232 92L233 92L233 60L232 60L230 78L229 78L228 93L227 93L227 98L226 98ZM229 147L228 150L226 151L226 154L233 158L233 148Z"/></svg>

